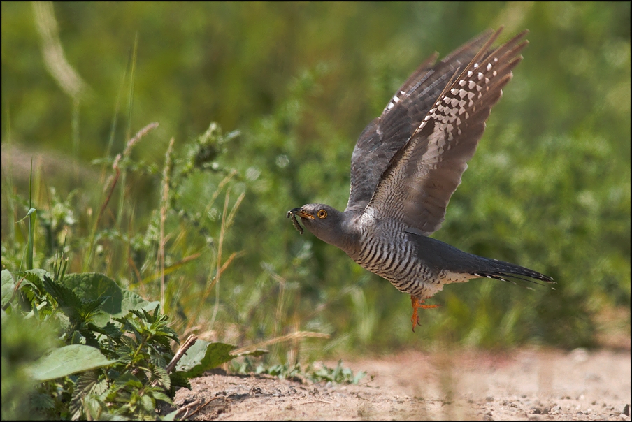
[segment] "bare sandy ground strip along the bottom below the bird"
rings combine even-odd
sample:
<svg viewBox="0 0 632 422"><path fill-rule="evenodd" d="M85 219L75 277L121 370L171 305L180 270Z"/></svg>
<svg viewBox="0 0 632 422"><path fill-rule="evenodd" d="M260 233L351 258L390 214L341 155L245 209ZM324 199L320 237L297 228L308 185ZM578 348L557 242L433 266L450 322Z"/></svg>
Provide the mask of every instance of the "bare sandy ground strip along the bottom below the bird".
<svg viewBox="0 0 632 422"><path fill-rule="evenodd" d="M344 365L373 380L352 386L226 374L194 379L192 391L176 395L178 419L630 421L629 351L407 352Z"/></svg>

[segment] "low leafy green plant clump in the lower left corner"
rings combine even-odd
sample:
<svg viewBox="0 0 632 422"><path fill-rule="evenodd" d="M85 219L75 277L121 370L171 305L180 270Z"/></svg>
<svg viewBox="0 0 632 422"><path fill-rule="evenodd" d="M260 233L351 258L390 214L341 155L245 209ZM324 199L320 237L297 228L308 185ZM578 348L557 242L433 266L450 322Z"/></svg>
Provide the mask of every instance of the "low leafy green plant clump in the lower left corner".
<svg viewBox="0 0 632 422"><path fill-rule="evenodd" d="M177 388L190 388L189 378L241 356L231 354L230 344L201 340L184 356L175 354L178 336L159 303L99 273L3 270L1 278L3 368L11 366L15 378L21 374L34 387L26 403L5 397L3 389L3 417L28 408L30 416L49 419L155 419L160 402L171 404ZM12 365L20 342L5 332L32 321L55 332L56 347ZM3 374L3 382L10 376Z"/></svg>

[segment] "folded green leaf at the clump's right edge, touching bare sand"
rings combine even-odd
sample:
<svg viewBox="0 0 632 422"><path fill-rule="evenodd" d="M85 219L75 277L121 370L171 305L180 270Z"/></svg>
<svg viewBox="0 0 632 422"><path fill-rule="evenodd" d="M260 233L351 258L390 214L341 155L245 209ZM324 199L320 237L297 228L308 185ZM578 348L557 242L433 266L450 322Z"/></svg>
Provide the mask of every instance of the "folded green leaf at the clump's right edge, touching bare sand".
<svg viewBox="0 0 632 422"><path fill-rule="evenodd" d="M230 353L234 348L232 344L198 340L185 356L182 356L176 369L187 378L199 377L204 371L216 368L235 358Z"/></svg>

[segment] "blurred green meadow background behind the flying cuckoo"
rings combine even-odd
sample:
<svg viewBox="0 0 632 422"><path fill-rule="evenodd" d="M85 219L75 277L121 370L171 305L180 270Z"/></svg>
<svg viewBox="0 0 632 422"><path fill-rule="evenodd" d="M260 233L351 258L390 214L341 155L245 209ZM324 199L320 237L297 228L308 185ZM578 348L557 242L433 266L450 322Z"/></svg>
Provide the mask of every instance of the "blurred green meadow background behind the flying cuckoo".
<svg viewBox="0 0 632 422"><path fill-rule="evenodd" d="M174 181L164 217L173 267L164 302L182 333L291 339L272 355L291 360L454 344L629 347L630 3L1 8L3 267L20 264L24 228L14 221L27 210L20 197L34 157L41 265L67 230L71 270L159 297L169 139L178 168L217 122L238 135L210 133L210 171ZM408 296L300 236L285 212L311 202L343 209L355 140L401 82L433 52L501 25L503 41L529 29L530 45L434 237L558 284L447 286L412 333ZM134 147L96 221L106 164L150 122L159 127ZM213 282L218 258L234 252Z"/></svg>

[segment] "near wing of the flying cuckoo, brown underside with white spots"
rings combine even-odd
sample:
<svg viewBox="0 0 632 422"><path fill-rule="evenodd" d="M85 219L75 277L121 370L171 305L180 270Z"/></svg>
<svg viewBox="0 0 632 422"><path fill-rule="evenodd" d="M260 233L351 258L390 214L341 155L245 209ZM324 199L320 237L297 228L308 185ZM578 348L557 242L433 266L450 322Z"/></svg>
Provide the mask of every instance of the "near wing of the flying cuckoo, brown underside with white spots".
<svg viewBox="0 0 632 422"><path fill-rule="evenodd" d="M440 228L491 107L522 60L526 32L491 51L496 31L471 63L452 75L410 140L392 157L366 213L402 221L412 233L429 235Z"/></svg>

